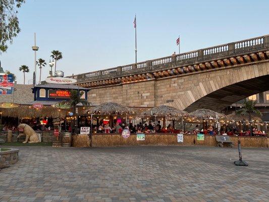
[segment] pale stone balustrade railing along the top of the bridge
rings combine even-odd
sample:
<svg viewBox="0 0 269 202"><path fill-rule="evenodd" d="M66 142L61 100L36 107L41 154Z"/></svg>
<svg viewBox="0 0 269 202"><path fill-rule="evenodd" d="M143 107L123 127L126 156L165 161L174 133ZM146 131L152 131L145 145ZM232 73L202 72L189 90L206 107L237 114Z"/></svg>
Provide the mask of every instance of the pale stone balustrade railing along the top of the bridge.
<svg viewBox="0 0 269 202"><path fill-rule="evenodd" d="M181 64L186 62L194 62L198 60L209 59L211 57L225 57L228 55L239 54L244 52L256 51L260 48L269 48L269 35L259 36L255 38L245 39L232 43L207 47L197 51L187 52L183 54L173 54L172 56L157 58L149 61L139 62L137 64L129 64L125 66L104 69L84 74L68 76L76 79L78 82L91 79L105 79L107 76L118 75L123 73L135 72L138 69L141 71L154 70L160 67L166 67L171 64Z"/></svg>

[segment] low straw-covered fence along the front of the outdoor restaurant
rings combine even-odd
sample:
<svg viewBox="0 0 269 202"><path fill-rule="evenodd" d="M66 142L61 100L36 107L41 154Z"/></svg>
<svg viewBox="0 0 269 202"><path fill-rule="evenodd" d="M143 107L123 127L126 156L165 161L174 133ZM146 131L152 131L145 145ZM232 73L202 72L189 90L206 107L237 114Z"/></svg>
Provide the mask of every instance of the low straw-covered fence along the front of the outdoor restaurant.
<svg viewBox="0 0 269 202"><path fill-rule="evenodd" d="M74 135L72 145L75 147L88 147L88 135ZM232 136L231 140L237 146L237 140L241 140L242 147L267 147L269 140L266 137L238 137ZM199 145L216 146L216 137L205 136L203 141L198 141L197 136L184 135L183 143L177 142L177 134L145 134L145 140L137 141L136 134L131 134L128 138L123 138L121 134L94 134L92 137L92 146L138 146L138 145Z"/></svg>

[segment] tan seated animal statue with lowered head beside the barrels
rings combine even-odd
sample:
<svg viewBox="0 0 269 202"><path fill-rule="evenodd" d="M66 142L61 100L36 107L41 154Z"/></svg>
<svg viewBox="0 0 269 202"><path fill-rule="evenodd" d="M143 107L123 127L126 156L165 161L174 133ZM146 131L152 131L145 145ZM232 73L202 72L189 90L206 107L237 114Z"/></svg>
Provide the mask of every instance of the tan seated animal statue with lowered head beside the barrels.
<svg viewBox="0 0 269 202"><path fill-rule="evenodd" d="M18 125L18 130L23 129L23 133L19 134L17 138L20 136L26 135L25 141L23 143L37 143L41 142L40 134L36 133L31 126L22 123ZM28 141L29 140L29 141Z"/></svg>

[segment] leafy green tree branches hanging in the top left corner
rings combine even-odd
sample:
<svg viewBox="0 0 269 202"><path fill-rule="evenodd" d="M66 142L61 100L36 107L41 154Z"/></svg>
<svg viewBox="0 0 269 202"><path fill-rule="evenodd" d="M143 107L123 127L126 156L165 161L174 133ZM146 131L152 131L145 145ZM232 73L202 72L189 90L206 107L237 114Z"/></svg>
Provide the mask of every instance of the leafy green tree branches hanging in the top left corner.
<svg viewBox="0 0 269 202"><path fill-rule="evenodd" d="M7 44L11 44L13 37L16 37L21 31L17 9L24 3L25 0L0 1L0 54L7 51Z"/></svg>

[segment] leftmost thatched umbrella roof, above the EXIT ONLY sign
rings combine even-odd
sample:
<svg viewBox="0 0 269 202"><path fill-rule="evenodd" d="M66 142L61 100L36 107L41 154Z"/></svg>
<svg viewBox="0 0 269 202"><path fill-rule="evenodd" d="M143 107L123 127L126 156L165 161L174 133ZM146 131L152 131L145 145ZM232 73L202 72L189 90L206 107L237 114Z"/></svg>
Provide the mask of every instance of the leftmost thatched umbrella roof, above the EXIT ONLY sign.
<svg viewBox="0 0 269 202"><path fill-rule="evenodd" d="M85 110L88 114L102 114L102 115L132 115L135 113L134 109L125 107L118 103L103 103L99 106Z"/></svg>

